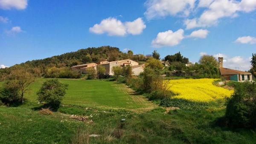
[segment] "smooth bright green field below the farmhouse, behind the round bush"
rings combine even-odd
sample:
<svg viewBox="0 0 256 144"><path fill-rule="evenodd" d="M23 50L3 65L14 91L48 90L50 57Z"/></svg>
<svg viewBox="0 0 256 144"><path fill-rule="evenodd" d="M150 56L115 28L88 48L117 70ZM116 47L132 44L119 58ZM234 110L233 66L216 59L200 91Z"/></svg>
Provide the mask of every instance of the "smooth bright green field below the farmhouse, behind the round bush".
<svg viewBox="0 0 256 144"><path fill-rule="evenodd" d="M29 101L37 100L36 92L47 79L40 78L30 86L30 91L25 94ZM90 107L111 107L136 109L152 107L153 104L141 95L135 95L125 84L112 81L59 79L69 84L64 97L64 105L79 105Z"/></svg>

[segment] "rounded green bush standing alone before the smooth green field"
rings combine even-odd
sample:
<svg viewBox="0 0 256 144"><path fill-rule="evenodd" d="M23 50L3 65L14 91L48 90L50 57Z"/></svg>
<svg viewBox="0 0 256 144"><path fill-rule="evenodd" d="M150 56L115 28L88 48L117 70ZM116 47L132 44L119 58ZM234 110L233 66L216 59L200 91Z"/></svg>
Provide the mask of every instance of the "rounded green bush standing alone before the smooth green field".
<svg viewBox="0 0 256 144"><path fill-rule="evenodd" d="M62 84L58 79L47 80L37 92L38 100L46 102L52 109L58 109L66 94L68 84Z"/></svg>

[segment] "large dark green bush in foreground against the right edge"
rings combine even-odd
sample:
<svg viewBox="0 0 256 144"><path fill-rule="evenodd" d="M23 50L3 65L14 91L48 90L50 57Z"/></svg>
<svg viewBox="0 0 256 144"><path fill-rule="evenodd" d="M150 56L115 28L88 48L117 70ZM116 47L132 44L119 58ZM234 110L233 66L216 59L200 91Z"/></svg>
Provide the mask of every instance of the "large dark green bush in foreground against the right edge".
<svg viewBox="0 0 256 144"><path fill-rule="evenodd" d="M236 85L225 114L231 127L256 127L256 83Z"/></svg>

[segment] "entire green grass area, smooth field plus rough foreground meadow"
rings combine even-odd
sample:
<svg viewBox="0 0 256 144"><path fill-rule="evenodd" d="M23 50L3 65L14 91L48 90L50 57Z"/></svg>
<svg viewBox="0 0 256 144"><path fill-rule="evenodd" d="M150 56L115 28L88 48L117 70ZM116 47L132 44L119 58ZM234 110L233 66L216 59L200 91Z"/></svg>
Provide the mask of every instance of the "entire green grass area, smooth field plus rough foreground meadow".
<svg viewBox="0 0 256 144"><path fill-rule="evenodd" d="M222 104L207 109L166 111L134 95L124 84L60 79L69 84L57 112L42 115L36 92L38 79L19 107L0 106L0 144L255 144L256 130L220 127ZM3 84L3 82L0 82ZM89 116L77 121L70 115ZM121 119L125 119L124 122ZM100 135L97 138L88 135Z"/></svg>

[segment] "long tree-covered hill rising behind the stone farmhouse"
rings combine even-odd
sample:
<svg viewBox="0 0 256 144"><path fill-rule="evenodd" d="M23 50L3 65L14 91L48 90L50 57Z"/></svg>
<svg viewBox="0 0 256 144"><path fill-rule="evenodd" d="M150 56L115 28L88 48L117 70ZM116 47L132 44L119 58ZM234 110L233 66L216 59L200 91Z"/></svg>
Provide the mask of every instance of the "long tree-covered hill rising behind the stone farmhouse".
<svg viewBox="0 0 256 144"><path fill-rule="evenodd" d="M87 49L79 49L76 52L67 52L62 55L52 56L50 58L44 58L41 60L26 61L25 63L16 64L10 68L0 69L0 81L4 80L6 75L9 75L11 69L18 66L26 66L38 71L40 75L47 72L47 69L56 68L69 68L71 66L84 64L84 63L97 63L100 61L114 61L131 58L136 61L145 61L146 58L143 55L133 55L133 52L129 50L124 53L117 47L101 46L101 47L89 47Z"/></svg>

